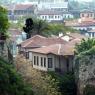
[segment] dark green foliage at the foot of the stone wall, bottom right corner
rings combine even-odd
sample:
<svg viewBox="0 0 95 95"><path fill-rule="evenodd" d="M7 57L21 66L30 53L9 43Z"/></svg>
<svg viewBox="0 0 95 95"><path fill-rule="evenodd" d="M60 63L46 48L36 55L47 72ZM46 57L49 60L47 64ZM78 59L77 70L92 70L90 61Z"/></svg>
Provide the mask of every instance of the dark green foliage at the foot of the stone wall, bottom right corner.
<svg viewBox="0 0 95 95"><path fill-rule="evenodd" d="M83 91L83 95L95 95L95 86L94 85L86 85Z"/></svg>

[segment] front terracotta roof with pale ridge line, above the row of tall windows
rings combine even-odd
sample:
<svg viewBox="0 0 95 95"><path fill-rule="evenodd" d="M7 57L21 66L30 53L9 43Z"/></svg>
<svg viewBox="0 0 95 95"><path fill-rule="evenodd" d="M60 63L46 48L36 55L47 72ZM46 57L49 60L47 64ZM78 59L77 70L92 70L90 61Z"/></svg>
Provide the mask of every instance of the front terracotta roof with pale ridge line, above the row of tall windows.
<svg viewBox="0 0 95 95"><path fill-rule="evenodd" d="M42 48L32 49L32 52L55 55L74 55L74 46L64 44L54 44Z"/></svg>

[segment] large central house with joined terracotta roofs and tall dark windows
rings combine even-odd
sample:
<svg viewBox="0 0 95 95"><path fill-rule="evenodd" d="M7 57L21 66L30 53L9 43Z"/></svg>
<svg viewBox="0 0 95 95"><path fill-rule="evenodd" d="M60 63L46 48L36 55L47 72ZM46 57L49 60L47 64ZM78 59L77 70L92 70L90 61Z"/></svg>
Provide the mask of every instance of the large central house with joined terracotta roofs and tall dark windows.
<svg viewBox="0 0 95 95"><path fill-rule="evenodd" d="M67 72L73 71L74 47L85 38L78 33L67 34L64 37L43 37L35 35L18 45L19 51L32 62L35 69L42 71Z"/></svg>

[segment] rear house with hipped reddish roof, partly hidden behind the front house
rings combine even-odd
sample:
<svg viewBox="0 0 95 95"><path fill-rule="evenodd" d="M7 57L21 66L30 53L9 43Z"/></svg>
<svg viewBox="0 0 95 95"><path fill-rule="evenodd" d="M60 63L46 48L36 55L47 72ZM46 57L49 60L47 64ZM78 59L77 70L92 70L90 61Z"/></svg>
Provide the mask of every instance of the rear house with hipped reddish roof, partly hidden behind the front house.
<svg viewBox="0 0 95 95"><path fill-rule="evenodd" d="M18 49L27 59L29 59L29 51L34 48L41 48L53 44L65 44L66 41L61 38L46 38L40 35L35 35L22 43L18 44Z"/></svg>

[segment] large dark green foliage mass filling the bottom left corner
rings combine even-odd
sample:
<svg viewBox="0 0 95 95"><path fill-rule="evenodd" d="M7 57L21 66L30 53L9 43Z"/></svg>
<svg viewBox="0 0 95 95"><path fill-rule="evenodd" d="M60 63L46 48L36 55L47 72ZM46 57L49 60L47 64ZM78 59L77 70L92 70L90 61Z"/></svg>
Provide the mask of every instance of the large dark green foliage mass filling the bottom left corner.
<svg viewBox="0 0 95 95"><path fill-rule="evenodd" d="M0 58L0 95L33 95L13 65Z"/></svg>

